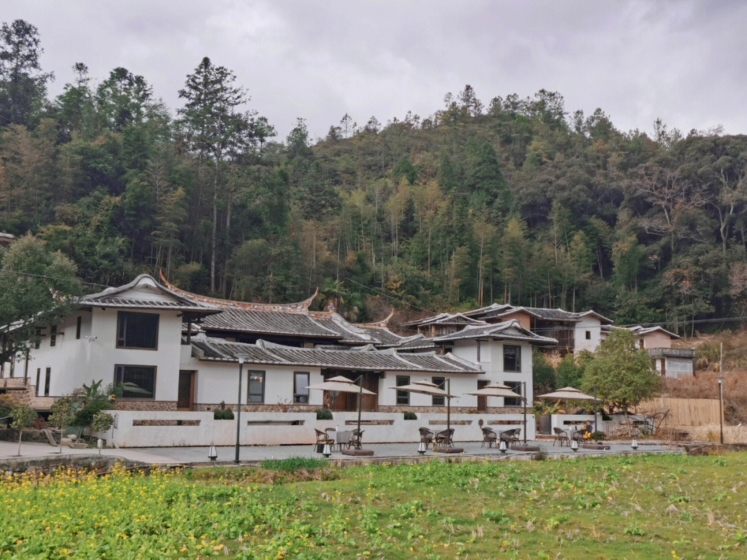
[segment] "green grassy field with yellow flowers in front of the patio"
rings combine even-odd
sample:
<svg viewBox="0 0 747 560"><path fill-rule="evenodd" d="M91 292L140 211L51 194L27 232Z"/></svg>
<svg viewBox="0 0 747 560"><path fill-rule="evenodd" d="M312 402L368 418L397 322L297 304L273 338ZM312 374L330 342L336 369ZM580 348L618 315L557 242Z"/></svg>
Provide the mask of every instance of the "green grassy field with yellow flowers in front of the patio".
<svg viewBox="0 0 747 560"><path fill-rule="evenodd" d="M746 452L266 467L6 480L0 559L747 557Z"/></svg>

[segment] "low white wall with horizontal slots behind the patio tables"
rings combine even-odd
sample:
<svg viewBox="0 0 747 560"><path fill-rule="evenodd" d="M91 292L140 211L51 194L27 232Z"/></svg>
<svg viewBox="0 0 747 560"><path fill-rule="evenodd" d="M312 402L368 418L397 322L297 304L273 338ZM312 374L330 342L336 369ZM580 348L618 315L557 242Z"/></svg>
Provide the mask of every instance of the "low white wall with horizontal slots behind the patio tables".
<svg viewBox="0 0 747 560"><path fill-rule="evenodd" d="M233 445L236 441L236 420L214 420L212 412L112 411L114 429L107 436L120 447L189 447ZM446 429L445 414L416 414L417 420L405 420L404 414L364 412L362 414L363 443L389 444L420 441L418 428L433 432ZM335 412L332 420L317 420L315 412L242 412L241 445L313 444L314 429L350 430L356 427L354 412ZM182 420L196 422L187 426L136 426L142 420ZM379 420L385 423L368 424ZM451 427L456 441L482 441L483 426L495 432L523 428L521 414L452 414ZM498 423L501 422L501 423ZM505 423L504 423L505 422ZM293 425L291 423L297 423ZM534 439L534 416L527 414L527 439ZM108 438L107 438L108 439Z"/></svg>

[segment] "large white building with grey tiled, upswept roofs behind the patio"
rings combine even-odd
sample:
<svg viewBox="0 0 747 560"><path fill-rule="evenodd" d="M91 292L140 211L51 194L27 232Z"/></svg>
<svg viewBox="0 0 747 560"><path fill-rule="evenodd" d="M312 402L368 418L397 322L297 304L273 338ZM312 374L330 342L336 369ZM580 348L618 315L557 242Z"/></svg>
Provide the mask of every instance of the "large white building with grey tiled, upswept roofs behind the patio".
<svg viewBox="0 0 747 560"><path fill-rule="evenodd" d="M171 421L182 426L188 414L177 422L167 413L199 413L195 422L204 423L209 419L205 412L223 405L235 408L238 363L243 361L241 408L249 413L249 423L261 424L268 415L282 413L282 420L273 416L273 425L303 424L310 412L322 408L344 419L344 413L355 410L356 396L308 389L343 375L360 379L376 393L363 399L362 408L385 415L376 420L381 429L370 428L384 437L384 426L394 422L389 419L399 422L403 412L428 415L445 410L442 398L396 390L397 385L419 379L449 386L458 397L452 402L454 414L480 412L495 422L504 415L506 423L515 423L518 402L486 402L466 393L490 382L505 382L531 402L532 348L557 343L515 320L487 326L475 322L423 343L424 337L400 337L389 331L386 321L354 324L332 311L309 311L313 299L273 305L233 302L197 296L141 275L122 287L78 299L75 312L42 329L37 345L19 356L13 368L4 368L0 391L22 393L45 411L55 398L100 381L102 387L122 389L117 409L130 428L139 422L146 427L149 422ZM293 420L294 414L306 414L306 420ZM304 441L313 436L308 423L305 426ZM471 430L470 438L480 435L474 426ZM142 433L131 441L143 444ZM267 437L283 443L286 435ZM533 423L527 435L533 438ZM387 437L405 441L412 436L390 430ZM265 438L262 443L272 442Z"/></svg>

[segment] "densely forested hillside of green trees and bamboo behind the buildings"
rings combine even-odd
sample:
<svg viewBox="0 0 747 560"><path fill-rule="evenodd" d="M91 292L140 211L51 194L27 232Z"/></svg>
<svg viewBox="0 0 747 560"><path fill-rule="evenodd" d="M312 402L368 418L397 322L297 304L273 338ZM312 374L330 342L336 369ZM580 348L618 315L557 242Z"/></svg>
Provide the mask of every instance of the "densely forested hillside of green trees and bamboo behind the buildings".
<svg viewBox="0 0 747 560"><path fill-rule="evenodd" d="M220 60L194 61L170 111L147 76L94 83L84 63L52 99L41 49L32 25L3 25L0 230L46 240L83 281L160 269L268 302L320 286L353 320L385 300L680 332L747 314L747 137L620 131L560 93L483 103L467 86L427 117L346 115L317 141L299 119L279 138Z"/></svg>

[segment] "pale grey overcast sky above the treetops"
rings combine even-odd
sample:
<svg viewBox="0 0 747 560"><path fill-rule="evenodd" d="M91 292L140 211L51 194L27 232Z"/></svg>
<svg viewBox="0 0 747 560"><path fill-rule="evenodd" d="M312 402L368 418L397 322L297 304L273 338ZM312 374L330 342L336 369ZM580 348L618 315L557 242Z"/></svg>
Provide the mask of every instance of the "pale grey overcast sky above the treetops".
<svg viewBox="0 0 747 560"><path fill-rule="evenodd" d="M747 3L740 1L40 1L0 0L3 21L39 28L54 94L84 62L142 74L178 108L207 55L228 66L285 138L297 116L312 136L350 113L359 124L471 84L494 96L545 88L571 112L601 107L618 128L660 116L689 131L747 133Z"/></svg>

